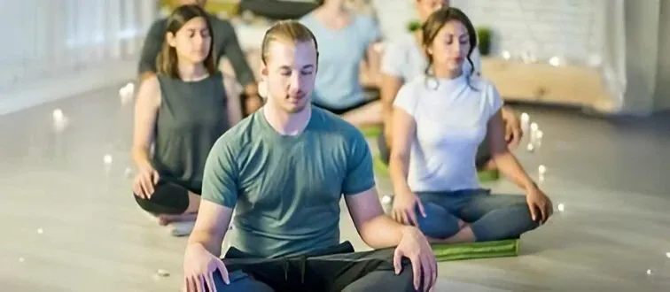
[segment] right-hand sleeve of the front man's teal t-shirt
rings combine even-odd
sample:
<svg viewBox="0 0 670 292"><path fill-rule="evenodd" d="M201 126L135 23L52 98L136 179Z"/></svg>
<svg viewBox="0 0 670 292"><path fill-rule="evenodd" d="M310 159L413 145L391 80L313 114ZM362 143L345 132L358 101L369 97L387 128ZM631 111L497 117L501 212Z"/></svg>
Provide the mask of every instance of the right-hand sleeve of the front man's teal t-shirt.
<svg viewBox="0 0 670 292"><path fill-rule="evenodd" d="M358 129L352 127L351 131L352 139L347 152L347 175L342 183L344 196L360 194L375 186L372 155L368 142Z"/></svg>

